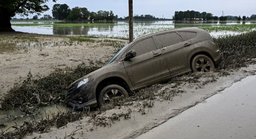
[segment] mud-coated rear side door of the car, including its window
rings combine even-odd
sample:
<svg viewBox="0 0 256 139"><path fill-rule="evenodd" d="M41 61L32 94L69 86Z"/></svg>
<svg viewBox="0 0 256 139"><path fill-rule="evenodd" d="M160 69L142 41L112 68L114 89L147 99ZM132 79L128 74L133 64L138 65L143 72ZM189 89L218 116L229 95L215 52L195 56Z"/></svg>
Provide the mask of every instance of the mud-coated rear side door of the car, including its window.
<svg viewBox="0 0 256 139"><path fill-rule="evenodd" d="M174 76L176 73L186 69L184 47L186 42L176 32L160 34L156 36L165 58L169 73Z"/></svg>

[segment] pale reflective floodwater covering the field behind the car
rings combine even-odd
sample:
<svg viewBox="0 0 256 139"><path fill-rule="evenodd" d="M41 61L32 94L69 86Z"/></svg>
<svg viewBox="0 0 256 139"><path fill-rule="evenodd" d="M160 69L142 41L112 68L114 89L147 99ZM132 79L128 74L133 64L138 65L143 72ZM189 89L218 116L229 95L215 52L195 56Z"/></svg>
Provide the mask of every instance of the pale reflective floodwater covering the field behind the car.
<svg viewBox="0 0 256 139"><path fill-rule="evenodd" d="M102 22L92 22L92 26L71 26L61 27L55 26L54 22L24 22L24 23L50 23L52 25L40 25L40 26L15 26L15 24L21 24L23 22L12 22L12 28L15 31L36 33L45 35L96 35L102 37L118 37L128 38L128 21L113 21L104 23L113 23L113 25L106 25ZM63 23L63 22L61 22ZM70 22L68 22L70 23ZM76 22L77 23L77 22ZM93 26L94 23L102 23L102 26ZM210 25L249 25L256 24L255 21L134 21L134 38L138 38L143 35L147 35L154 32L170 30L177 28L175 24L210 24ZM65 23L63 23L65 24ZM178 27L179 28L179 27ZM238 32L230 31L218 31L210 32L213 37L221 35L236 35Z"/></svg>

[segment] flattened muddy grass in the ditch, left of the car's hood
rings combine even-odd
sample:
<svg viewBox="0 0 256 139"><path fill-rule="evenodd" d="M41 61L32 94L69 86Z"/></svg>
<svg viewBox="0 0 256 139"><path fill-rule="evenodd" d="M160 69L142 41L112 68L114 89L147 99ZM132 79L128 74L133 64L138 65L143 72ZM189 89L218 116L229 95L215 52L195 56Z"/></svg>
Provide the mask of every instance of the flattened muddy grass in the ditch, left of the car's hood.
<svg viewBox="0 0 256 139"><path fill-rule="evenodd" d="M63 104L67 86L101 66L92 63L90 66L80 64L76 68L56 68L45 77L33 76L29 72L26 80L15 84L8 91L1 108L8 110L20 107L21 111L30 113L33 109L50 103Z"/></svg>

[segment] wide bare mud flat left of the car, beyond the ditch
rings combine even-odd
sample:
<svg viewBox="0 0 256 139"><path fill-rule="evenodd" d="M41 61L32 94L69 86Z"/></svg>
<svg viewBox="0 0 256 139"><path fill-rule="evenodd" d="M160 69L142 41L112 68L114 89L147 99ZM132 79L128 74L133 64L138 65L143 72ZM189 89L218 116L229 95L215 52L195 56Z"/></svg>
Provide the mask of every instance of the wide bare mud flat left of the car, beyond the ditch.
<svg viewBox="0 0 256 139"><path fill-rule="evenodd" d="M0 98L31 71L44 76L55 67L76 67L91 61L105 62L117 51L103 38L95 42L72 41L70 37L20 32L0 34ZM125 40L121 40L127 43Z"/></svg>

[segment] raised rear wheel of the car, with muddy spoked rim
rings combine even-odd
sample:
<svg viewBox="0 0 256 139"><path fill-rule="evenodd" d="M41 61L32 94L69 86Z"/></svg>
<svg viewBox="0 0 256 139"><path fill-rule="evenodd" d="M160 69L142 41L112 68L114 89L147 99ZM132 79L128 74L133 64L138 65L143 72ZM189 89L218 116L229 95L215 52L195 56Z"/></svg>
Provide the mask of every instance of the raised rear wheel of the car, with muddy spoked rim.
<svg viewBox="0 0 256 139"><path fill-rule="evenodd" d="M210 72L214 71L215 66L211 58L200 54L193 58L191 68L193 72Z"/></svg>

